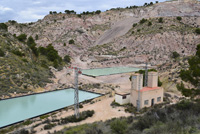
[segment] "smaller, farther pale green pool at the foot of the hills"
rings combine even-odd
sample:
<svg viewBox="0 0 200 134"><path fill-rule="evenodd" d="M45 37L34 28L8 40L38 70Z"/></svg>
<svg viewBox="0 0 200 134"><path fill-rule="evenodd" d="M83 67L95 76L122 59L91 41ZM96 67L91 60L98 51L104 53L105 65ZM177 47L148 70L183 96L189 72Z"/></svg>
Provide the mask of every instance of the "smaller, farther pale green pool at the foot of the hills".
<svg viewBox="0 0 200 134"><path fill-rule="evenodd" d="M110 67L110 68L85 69L82 70L82 74L97 77L97 76L106 76L112 74L136 72L139 70L140 68L134 68L134 67Z"/></svg>

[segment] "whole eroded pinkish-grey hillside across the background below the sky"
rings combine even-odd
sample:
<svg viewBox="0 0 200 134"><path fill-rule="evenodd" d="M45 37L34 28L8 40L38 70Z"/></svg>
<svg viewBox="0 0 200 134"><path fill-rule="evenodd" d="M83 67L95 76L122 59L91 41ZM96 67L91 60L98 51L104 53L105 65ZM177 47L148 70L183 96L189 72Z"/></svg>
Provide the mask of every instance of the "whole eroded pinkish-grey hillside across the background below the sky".
<svg viewBox="0 0 200 134"><path fill-rule="evenodd" d="M176 20L176 16L182 20ZM163 23L158 23L159 17L163 17ZM148 21L139 24L142 18ZM133 28L134 23L138 25ZM162 64L171 60L174 51L181 56L192 55L200 43L200 36L195 33L197 27L200 27L200 3L173 1L81 18L47 15L35 23L10 24L8 30L16 35L38 35L38 46L52 43L61 56L68 54L74 62L80 56L88 66L111 66L146 60L154 65ZM74 44L69 44L71 39Z"/></svg>

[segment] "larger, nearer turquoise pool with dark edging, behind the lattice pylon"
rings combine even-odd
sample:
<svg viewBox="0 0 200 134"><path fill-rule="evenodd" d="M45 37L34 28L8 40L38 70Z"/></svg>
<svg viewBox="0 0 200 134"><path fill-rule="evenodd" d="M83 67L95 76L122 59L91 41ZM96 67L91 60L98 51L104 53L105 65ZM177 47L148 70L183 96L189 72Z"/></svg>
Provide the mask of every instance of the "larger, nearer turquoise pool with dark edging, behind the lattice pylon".
<svg viewBox="0 0 200 134"><path fill-rule="evenodd" d="M79 102L99 97L79 90ZM0 101L0 128L74 103L74 89L58 90Z"/></svg>

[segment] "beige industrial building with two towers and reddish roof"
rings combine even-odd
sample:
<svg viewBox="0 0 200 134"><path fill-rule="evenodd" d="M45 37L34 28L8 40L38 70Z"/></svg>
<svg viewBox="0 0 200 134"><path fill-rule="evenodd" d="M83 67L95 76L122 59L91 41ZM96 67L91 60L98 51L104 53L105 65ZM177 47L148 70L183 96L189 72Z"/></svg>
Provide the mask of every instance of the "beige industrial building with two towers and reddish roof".
<svg viewBox="0 0 200 134"><path fill-rule="evenodd" d="M121 105L132 103L139 109L163 102L163 88L158 87L158 73L148 73L148 83L145 87L143 75L133 74L130 93L116 93L115 101Z"/></svg>

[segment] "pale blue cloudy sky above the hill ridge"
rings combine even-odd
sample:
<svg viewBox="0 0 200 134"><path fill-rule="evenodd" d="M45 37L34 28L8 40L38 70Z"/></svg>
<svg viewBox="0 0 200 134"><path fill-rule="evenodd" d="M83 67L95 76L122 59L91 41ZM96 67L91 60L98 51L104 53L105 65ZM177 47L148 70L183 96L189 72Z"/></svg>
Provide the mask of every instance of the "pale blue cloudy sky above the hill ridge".
<svg viewBox="0 0 200 134"><path fill-rule="evenodd" d="M111 8L140 6L150 2L149 0L0 0L0 22L8 20L16 20L20 23L34 22L49 14L49 11L75 10L77 13L106 11Z"/></svg>

